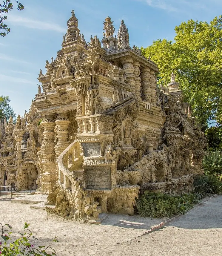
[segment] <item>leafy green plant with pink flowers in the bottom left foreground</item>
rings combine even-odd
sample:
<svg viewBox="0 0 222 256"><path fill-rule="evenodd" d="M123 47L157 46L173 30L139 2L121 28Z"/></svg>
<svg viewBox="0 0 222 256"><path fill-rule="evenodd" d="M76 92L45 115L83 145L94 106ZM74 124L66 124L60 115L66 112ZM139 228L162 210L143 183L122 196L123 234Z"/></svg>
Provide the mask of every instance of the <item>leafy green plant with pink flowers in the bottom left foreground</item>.
<svg viewBox="0 0 222 256"><path fill-rule="evenodd" d="M20 238L16 239L14 242L9 242L10 235L12 232L8 232L8 229L12 229L12 226L9 224L4 224L4 221L2 221L1 224L1 243L0 243L0 254L4 256L51 256L56 255L55 250L51 248L51 244L48 246L38 246L38 248L35 248L34 245L31 245L29 242L30 238L35 238L33 233L28 229L29 224L24 224L24 231L22 233L19 233L21 235ZM38 240L38 239L37 239ZM57 237L53 239L54 242L58 242ZM51 252L49 252L49 249L51 249Z"/></svg>

